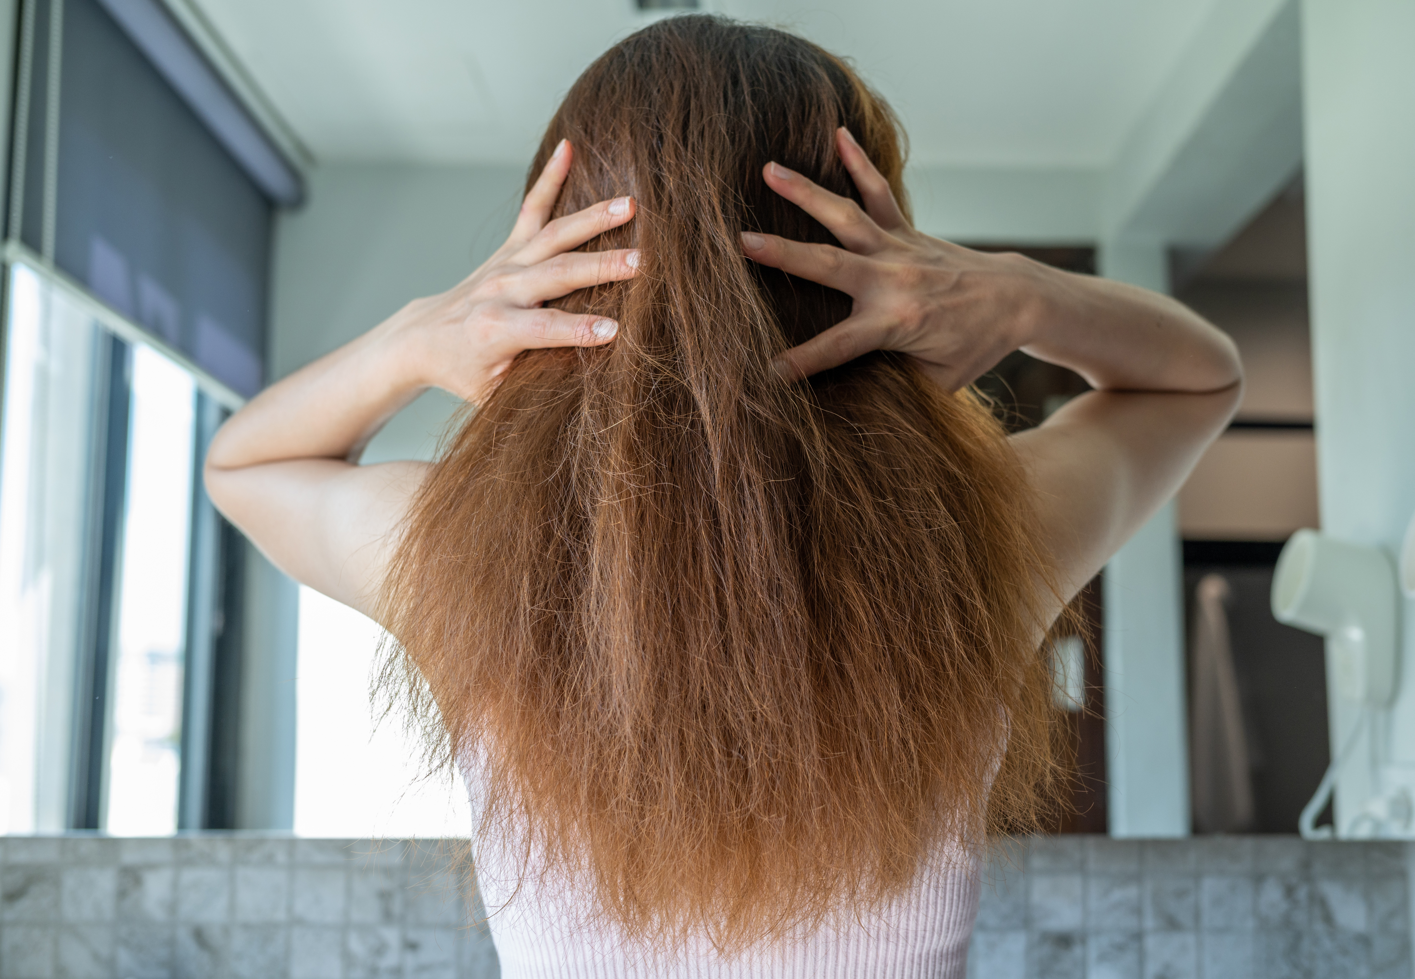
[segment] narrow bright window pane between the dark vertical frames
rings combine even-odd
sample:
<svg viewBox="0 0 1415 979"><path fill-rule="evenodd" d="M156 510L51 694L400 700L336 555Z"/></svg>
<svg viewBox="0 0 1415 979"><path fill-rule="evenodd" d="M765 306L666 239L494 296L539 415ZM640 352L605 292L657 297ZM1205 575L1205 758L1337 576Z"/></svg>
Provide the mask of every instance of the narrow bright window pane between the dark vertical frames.
<svg viewBox="0 0 1415 979"><path fill-rule="evenodd" d="M106 829L177 829L197 388L133 348Z"/></svg>

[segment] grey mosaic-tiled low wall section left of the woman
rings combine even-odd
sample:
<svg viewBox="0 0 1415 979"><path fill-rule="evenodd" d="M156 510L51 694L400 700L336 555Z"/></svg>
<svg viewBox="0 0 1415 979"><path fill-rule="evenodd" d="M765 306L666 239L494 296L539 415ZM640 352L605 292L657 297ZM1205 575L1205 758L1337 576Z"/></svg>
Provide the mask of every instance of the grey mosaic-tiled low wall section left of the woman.
<svg viewBox="0 0 1415 979"><path fill-rule="evenodd" d="M487 979L450 849L0 838L0 979Z"/></svg>

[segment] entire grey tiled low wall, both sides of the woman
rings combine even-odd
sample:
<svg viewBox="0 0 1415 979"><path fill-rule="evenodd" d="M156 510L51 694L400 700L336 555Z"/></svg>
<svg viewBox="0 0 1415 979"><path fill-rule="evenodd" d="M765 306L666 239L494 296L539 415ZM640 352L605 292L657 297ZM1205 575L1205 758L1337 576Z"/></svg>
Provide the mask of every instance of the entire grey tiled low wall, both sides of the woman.
<svg viewBox="0 0 1415 979"><path fill-rule="evenodd" d="M437 842L0 838L0 979L484 979ZM1411 979L1411 853L1295 838L1016 847L971 979Z"/></svg>

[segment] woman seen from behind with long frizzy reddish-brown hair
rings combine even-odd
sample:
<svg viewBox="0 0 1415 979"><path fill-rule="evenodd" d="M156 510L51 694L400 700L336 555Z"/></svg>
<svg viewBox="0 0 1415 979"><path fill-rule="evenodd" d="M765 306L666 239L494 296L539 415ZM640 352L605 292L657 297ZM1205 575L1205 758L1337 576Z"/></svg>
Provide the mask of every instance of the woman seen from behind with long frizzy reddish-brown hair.
<svg viewBox="0 0 1415 979"><path fill-rule="evenodd" d="M1039 647L1232 344L916 231L887 106L781 31L630 37L532 174L466 282L228 422L212 499L395 638L502 975L961 975L1054 788ZM1095 390L1007 439L968 385L1013 349ZM477 405L441 460L357 465L430 385Z"/></svg>

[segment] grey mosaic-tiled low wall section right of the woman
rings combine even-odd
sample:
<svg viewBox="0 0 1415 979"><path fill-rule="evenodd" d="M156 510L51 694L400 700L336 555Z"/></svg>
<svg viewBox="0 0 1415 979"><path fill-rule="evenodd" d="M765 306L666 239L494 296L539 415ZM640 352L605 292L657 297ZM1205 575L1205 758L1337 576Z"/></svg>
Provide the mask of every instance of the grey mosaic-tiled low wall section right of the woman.
<svg viewBox="0 0 1415 979"><path fill-rule="evenodd" d="M1411 979L1404 843L1036 840L983 884L971 979Z"/></svg>

